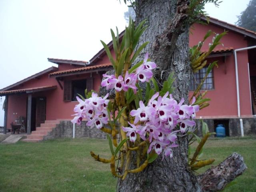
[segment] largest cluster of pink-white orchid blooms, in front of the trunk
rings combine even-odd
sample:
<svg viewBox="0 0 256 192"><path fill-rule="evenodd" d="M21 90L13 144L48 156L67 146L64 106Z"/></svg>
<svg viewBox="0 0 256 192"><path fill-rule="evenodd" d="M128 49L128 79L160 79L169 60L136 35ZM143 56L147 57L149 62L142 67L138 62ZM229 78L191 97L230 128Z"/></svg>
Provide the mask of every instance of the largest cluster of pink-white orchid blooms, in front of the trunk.
<svg viewBox="0 0 256 192"><path fill-rule="evenodd" d="M131 127L122 127L122 129L127 132L132 142L135 142L137 134L143 140L148 139L150 142L148 153L154 149L159 155L164 150L164 155L172 158L172 148L178 146L177 132L184 133L188 127L194 126L195 122L191 119L196 117L195 112L199 110L198 105L186 105L183 102L184 98L178 103L168 92L163 97L156 92L147 106L140 101L140 108L130 112L130 115L135 117L134 124L128 122ZM195 98L192 104L194 102ZM138 124L139 121L142 124ZM173 131L177 125L180 130Z"/></svg>

